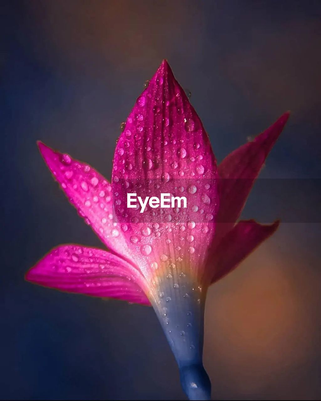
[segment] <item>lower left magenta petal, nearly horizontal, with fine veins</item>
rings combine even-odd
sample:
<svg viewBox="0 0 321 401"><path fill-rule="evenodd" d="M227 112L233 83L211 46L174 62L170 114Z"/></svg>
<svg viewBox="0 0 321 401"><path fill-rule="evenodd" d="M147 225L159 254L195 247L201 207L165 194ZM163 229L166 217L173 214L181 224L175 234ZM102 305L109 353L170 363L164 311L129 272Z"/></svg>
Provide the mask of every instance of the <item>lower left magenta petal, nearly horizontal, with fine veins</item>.
<svg viewBox="0 0 321 401"><path fill-rule="evenodd" d="M61 291L149 305L144 278L130 263L102 249L61 245L26 273L26 280Z"/></svg>

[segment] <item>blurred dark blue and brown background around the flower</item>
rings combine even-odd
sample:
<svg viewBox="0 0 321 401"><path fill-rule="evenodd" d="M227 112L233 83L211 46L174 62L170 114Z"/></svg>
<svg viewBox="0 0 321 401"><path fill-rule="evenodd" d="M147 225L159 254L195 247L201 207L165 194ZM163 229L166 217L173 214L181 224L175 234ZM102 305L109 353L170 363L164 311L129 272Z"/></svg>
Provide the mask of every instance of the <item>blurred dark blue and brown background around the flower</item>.
<svg viewBox="0 0 321 401"><path fill-rule="evenodd" d="M103 246L36 140L110 178L166 58L218 162L292 110L242 216L282 224L209 290L212 397L320 399L321 2L7 0L1 16L0 398L185 399L151 308L24 282L60 243Z"/></svg>

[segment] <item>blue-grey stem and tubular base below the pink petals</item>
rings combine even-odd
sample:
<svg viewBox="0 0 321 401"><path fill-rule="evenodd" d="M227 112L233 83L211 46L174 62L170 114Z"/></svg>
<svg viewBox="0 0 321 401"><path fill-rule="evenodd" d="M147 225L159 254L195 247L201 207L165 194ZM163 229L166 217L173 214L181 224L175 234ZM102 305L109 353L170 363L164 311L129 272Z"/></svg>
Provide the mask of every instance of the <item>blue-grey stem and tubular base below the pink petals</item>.
<svg viewBox="0 0 321 401"><path fill-rule="evenodd" d="M164 281L153 305L190 400L211 399L211 382L202 361L205 296L206 290L188 279L180 279L179 286Z"/></svg>

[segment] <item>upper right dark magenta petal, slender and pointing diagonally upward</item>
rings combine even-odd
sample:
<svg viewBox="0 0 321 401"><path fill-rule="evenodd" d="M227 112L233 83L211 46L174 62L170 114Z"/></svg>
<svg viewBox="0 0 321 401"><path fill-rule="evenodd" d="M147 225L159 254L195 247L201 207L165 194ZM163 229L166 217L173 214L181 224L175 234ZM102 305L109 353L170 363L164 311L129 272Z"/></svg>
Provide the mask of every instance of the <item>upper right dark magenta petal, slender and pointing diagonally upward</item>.
<svg viewBox="0 0 321 401"><path fill-rule="evenodd" d="M278 139L290 113L284 113L270 128L234 150L219 164L220 209L217 221L221 234L229 231L244 207L248 194L272 146Z"/></svg>

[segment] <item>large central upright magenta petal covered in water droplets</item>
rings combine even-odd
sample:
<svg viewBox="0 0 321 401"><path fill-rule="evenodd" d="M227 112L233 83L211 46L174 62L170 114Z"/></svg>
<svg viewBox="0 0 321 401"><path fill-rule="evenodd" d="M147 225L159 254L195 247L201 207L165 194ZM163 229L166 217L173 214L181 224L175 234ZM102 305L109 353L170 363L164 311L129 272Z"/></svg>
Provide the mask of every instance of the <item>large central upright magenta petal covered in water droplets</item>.
<svg viewBox="0 0 321 401"><path fill-rule="evenodd" d="M218 208L216 178L209 138L164 60L130 112L113 166L115 213L145 275L151 264L158 272L173 263L183 271L203 267ZM187 208L140 213L127 207L128 193L185 196Z"/></svg>

